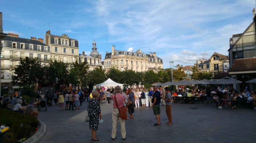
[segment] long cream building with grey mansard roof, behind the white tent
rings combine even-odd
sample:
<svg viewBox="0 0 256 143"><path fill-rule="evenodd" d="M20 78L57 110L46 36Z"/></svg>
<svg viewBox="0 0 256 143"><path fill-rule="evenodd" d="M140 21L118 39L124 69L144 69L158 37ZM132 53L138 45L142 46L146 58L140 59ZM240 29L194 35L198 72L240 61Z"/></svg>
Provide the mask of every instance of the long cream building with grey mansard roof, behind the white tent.
<svg viewBox="0 0 256 143"><path fill-rule="evenodd" d="M111 53L106 52L104 68L108 72L112 67L115 67L121 71L133 70L140 72L153 70L157 72L158 69L163 68L163 62L161 58L156 56L155 52L150 52L150 54L141 52L141 50L137 50L136 52L128 52L115 50L115 46L112 46Z"/></svg>

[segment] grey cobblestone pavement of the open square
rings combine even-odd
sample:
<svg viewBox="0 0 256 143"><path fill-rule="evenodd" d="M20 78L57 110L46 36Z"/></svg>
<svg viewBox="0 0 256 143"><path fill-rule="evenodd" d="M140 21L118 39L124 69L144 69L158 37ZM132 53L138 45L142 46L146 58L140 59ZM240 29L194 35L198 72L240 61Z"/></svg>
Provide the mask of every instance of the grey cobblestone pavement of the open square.
<svg viewBox="0 0 256 143"><path fill-rule="evenodd" d="M80 110L59 111L58 106L42 110L39 119L47 128L41 143L91 143L89 123L85 122L87 102ZM111 140L112 104L101 105L103 123L98 126L98 143L255 143L256 110L218 109L212 104L173 103L173 125L167 126L165 106L161 106L161 127L150 107L135 108L134 119L126 120L126 140L122 140L120 124L116 140Z"/></svg>

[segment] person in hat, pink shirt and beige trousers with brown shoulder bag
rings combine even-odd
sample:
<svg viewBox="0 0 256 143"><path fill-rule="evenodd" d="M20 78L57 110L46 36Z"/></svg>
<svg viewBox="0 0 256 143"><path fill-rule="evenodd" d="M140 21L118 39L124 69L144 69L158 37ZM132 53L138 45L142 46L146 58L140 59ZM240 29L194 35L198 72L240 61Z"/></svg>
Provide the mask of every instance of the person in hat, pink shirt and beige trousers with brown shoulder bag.
<svg viewBox="0 0 256 143"><path fill-rule="evenodd" d="M125 120L122 119L123 116L120 117L120 114L122 114L122 113L120 113L120 111L121 111L120 108L123 107L123 102L125 100L125 96L120 93L122 90L119 86L116 86L114 91L116 92L116 94L111 96L111 100L114 101L113 102L113 110L112 110L112 135L111 135L111 138L112 138L112 140L114 140L116 138L117 123L119 120L119 123L121 126L122 139L125 140L125 138L126 138ZM127 117L127 111L126 111L126 117Z"/></svg>

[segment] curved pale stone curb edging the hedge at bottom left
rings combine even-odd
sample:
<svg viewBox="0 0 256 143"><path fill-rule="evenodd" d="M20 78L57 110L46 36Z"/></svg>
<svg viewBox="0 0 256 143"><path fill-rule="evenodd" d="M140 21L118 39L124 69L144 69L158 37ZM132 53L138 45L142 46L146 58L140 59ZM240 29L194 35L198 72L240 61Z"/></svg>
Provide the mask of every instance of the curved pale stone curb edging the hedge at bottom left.
<svg viewBox="0 0 256 143"><path fill-rule="evenodd" d="M39 141L44 137L45 133L46 125L41 120L39 120L39 129L34 135L32 135L30 138L23 141L22 143L39 143Z"/></svg>

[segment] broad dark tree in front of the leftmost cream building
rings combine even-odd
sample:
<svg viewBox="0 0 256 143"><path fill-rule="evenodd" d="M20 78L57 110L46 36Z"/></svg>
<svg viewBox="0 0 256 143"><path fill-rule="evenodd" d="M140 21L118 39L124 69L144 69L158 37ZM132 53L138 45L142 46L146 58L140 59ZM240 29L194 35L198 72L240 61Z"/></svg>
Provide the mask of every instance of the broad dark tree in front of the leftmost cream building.
<svg viewBox="0 0 256 143"><path fill-rule="evenodd" d="M12 83L21 82L23 86L33 86L37 82L44 82L44 70L41 62L33 58L20 58L20 64L14 68L16 76L12 77Z"/></svg>

